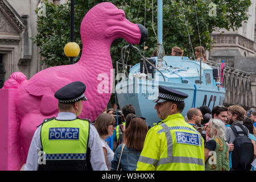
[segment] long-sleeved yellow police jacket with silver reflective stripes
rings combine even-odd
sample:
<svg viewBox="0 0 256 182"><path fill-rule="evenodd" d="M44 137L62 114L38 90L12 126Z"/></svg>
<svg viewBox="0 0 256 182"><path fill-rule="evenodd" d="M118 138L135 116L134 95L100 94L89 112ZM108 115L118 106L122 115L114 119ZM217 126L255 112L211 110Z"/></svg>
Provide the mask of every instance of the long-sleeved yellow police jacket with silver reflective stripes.
<svg viewBox="0 0 256 182"><path fill-rule="evenodd" d="M204 139L181 114L148 130L137 171L154 170L204 171Z"/></svg>

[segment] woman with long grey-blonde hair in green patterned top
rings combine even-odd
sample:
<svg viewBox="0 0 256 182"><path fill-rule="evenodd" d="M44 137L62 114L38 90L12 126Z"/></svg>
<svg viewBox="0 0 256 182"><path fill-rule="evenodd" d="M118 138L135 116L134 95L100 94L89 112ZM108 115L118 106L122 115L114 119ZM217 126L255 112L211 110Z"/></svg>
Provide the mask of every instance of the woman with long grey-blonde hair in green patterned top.
<svg viewBox="0 0 256 182"><path fill-rule="evenodd" d="M205 171L229 171L229 146L225 141L225 124L210 119L207 135L211 138L204 148Z"/></svg>

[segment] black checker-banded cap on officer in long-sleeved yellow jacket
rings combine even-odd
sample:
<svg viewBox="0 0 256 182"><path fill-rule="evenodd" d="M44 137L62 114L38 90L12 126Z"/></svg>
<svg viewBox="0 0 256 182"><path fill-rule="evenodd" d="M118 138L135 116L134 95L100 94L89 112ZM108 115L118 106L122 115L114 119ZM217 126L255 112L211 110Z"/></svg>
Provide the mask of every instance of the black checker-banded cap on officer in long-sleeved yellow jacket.
<svg viewBox="0 0 256 182"><path fill-rule="evenodd" d="M175 89L168 88L166 86L159 85L158 90L158 98L153 101L155 103L165 101L184 102L185 98L188 97L187 94L177 91Z"/></svg>

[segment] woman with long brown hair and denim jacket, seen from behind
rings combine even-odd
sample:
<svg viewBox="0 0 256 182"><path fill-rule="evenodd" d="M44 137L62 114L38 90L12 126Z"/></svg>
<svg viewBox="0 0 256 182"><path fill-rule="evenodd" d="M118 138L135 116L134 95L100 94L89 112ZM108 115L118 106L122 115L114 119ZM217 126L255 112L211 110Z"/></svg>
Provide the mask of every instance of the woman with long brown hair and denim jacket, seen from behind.
<svg viewBox="0 0 256 182"><path fill-rule="evenodd" d="M111 170L134 171L137 168L146 134L147 124L145 119L134 116L129 123L129 127L125 130L123 143L115 150Z"/></svg>

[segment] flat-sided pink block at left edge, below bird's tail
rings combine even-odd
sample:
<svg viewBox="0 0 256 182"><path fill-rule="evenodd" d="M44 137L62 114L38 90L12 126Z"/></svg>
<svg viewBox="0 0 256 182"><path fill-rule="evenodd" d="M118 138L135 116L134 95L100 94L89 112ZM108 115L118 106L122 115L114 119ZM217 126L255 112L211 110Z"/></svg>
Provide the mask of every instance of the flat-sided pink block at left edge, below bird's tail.
<svg viewBox="0 0 256 182"><path fill-rule="evenodd" d="M0 89L0 170L19 170L25 163L16 118L17 89Z"/></svg>

